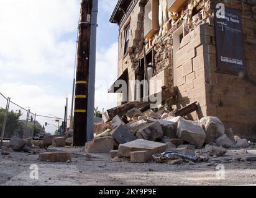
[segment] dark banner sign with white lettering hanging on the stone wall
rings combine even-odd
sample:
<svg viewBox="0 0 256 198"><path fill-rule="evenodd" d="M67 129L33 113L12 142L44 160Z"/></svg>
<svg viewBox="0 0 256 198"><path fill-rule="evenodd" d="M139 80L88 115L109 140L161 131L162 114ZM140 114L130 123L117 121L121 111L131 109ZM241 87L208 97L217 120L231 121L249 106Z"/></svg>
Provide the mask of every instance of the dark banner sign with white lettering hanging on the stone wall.
<svg viewBox="0 0 256 198"><path fill-rule="evenodd" d="M240 11L223 7L225 10L224 14L217 7L219 6L215 4L217 71L227 74L246 72Z"/></svg>

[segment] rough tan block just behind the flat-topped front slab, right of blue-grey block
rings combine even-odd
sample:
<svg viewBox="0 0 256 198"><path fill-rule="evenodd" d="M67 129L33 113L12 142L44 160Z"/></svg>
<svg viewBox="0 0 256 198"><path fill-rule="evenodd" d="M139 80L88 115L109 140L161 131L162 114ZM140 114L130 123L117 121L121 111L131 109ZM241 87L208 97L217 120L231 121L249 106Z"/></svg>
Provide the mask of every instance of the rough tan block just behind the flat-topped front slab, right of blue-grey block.
<svg viewBox="0 0 256 198"><path fill-rule="evenodd" d="M136 133L137 139L145 139L150 141L155 141L157 139L162 139L163 130L158 122L146 124Z"/></svg>

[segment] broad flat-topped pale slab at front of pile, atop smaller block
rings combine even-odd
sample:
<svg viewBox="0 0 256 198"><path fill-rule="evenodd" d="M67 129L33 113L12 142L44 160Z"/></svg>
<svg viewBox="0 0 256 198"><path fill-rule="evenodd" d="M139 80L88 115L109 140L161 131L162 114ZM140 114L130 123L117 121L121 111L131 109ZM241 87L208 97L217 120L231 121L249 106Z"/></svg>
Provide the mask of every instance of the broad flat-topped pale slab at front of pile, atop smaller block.
<svg viewBox="0 0 256 198"><path fill-rule="evenodd" d="M167 144L151 142L144 139L134 140L126 144L119 145L117 155L121 157L130 157L130 152L149 150L150 155L154 153L163 153L167 149Z"/></svg>

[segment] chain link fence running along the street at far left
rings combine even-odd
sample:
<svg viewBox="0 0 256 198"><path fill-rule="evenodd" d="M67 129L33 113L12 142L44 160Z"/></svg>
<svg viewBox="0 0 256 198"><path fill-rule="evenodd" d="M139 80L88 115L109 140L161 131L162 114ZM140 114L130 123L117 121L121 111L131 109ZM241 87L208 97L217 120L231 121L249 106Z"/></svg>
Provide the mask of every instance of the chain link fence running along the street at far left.
<svg viewBox="0 0 256 198"><path fill-rule="evenodd" d="M68 122L68 121L66 121ZM43 126L42 124L43 123ZM45 126L46 125L46 126ZM11 139L17 136L21 139L35 138L47 134L47 130L55 135L65 133L65 120L57 116L42 116L30 111L30 107L22 107L11 98L0 93L0 137Z"/></svg>

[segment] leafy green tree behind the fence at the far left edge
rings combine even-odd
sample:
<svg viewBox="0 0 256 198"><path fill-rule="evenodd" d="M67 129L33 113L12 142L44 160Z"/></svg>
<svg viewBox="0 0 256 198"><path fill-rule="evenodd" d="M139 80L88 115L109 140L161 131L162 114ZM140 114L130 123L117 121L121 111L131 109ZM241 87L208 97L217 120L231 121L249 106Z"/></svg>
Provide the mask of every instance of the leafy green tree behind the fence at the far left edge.
<svg viewBox="0 0 256 198"><path fill-rule="evenodd" d="M0 129L2 131L2 124L4 121L4 115L6 110L0 108ZM14 111L9 111L7 113L7 121L6 121L6 130L4 132L4 137L12 137L14 136L14 131L21 128L21 123L19 123L19 117L21 117L21 113L14 113Z"/></svg>

